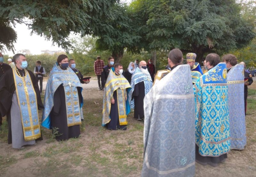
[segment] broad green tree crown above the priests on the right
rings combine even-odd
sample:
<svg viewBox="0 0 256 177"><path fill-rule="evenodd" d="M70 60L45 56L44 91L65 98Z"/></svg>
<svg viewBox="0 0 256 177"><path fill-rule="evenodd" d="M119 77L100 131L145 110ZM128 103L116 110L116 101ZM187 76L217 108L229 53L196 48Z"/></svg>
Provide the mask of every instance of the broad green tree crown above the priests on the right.
<svg viewBox="0 0 256 177"><path fill-rule="evenodd" d="M243 48L255 37L234 0L135 0L130 7L148 50L180 48L195 52L200 63L204 54Z"/></svg>

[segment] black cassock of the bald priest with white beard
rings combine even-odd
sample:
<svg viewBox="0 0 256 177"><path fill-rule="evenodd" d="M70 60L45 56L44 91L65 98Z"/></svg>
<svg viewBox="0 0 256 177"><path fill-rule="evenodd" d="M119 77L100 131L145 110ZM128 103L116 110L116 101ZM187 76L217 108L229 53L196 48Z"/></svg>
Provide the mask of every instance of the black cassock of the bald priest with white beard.
<svg viewBox="0 0 256 177"><path fill-rule="evenodd" d="M132 92L132 99L134 99L134 118L144 119L144 104L143 100L145 97L145 85L144 82L139 82L134 86L134 91Z"/></svg>

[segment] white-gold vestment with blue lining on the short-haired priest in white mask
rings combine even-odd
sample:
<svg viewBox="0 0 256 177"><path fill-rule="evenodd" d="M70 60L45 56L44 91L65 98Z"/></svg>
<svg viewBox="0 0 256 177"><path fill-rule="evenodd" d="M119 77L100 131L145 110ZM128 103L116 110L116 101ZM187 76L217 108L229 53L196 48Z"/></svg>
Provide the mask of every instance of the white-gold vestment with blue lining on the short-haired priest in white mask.
<svg viewBox="0 0 256 177"><path fill-rule="evenodd" d="M118 116L120 125L127 125L127 114L129 114L129 98L125 101L125 96L127 95L126 89L131 88L131 85L127 79L122 75L116 75L113 70L109 71L108 78L104 88L103 96L103 106L102 106L102 126L105 126L110 122L111 117L111 97L116 91L117 94L117 106L118 106Z"/></svg>

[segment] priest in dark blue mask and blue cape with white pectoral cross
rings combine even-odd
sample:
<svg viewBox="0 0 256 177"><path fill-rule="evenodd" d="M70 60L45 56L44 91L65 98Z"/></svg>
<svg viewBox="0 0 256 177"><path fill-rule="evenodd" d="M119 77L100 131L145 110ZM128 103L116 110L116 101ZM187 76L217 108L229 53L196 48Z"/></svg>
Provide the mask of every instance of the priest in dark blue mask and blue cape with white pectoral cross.
<svg viewBox="0 0 256 177"><path fill-rule="evenodd" d="M82 106L80 80L68 66L68 56L59 55L46 85L42 126L53 129L58 141L78 138Z"/></svg>

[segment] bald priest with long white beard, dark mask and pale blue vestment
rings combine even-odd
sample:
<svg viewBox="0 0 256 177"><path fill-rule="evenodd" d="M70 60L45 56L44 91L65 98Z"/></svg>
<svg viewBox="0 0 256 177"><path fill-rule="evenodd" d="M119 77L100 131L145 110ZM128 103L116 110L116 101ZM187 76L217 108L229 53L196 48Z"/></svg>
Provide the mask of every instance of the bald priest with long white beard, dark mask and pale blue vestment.
<svg viewBox="0 0 256 177"><path fill-rule="evenodd" d="M147 69L147 63L141 61L139 67L132 74L132 89L129 92L130 107L134 108L134 118L139 121L144 119L143 100L152 85L153 82Z"/></svg>

